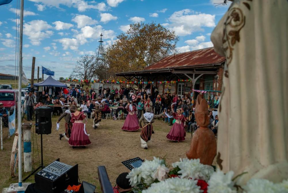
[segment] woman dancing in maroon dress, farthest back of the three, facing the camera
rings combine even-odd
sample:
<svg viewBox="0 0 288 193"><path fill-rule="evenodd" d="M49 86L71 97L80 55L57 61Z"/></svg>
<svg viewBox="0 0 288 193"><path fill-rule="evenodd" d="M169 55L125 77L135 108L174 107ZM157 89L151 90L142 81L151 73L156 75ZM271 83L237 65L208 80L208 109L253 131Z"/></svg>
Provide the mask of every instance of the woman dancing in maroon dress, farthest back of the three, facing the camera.
<svg viewBox="0 0 288 193"><path fill-rule="evenodd" d="M128 114L126 117L126 120L124 122L124 125L122 127L122 130L125 131L137 131L139 129L139 122L137 118L137 108L132 105L130 102L126 105L125 109L127 109Z"/></svg>

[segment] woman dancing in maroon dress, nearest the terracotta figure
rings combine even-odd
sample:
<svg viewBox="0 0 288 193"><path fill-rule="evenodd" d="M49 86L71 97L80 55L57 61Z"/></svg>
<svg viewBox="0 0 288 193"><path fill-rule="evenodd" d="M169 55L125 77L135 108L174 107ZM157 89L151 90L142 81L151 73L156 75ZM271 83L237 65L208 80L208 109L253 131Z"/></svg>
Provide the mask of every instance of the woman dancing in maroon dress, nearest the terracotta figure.
<svg viewBox="0 0 288 193"><path fill-rule="evenodd" d="M170 132L166 136L167 139L170 139L171 141L184 141L186 132L185 132L185 124L186 124L186 119L185 117L181 114L181 109L177 109L177 113L174 112L174 109L171 108L173 112L173 118L176 120L175 123L173 124Z"/></svg>

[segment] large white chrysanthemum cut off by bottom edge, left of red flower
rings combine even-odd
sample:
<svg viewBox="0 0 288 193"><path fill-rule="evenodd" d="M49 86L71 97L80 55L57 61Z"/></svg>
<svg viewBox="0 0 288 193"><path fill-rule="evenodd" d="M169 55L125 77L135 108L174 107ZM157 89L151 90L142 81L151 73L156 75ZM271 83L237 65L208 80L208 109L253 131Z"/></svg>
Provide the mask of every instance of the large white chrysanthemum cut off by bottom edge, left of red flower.
<svg viewBox="0 0 288 193"><path fill-rule="evenodd" d="M168 178L159 183L152 183L147 190L142 193L200 193L200 186L197 186L197 180Z"/></svg>

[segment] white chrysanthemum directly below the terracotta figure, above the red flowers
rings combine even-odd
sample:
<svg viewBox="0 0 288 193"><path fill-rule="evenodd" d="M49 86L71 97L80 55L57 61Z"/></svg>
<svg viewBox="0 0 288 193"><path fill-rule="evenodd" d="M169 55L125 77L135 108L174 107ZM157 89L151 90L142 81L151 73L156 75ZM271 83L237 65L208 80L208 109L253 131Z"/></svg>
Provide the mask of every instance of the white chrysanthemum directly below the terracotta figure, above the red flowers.
<svg viewBox="0 0 288 193"><path fill-rule="evenodd" d="M214 172L212 166L200 163L200 159L180 158L180 162L172 164L173 167L179 167L181 178L202 179L208 181L211 174Z"/></svg>

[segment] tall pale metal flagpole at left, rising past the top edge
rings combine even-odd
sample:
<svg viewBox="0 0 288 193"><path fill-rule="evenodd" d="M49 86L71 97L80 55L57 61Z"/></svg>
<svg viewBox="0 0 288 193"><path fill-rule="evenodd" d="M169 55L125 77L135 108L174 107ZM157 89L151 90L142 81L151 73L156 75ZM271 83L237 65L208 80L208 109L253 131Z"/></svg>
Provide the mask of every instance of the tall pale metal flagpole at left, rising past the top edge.
<svg viewBox="0 0 288 193"><path fill-rule="evenodd" d="M20 7L20 31L19 31L19 65L18 65L18 186L22 186L22 128L21 128L21 82L22 82L22 42L23 42L23 10L24 0ZM15 110L15 109L14 109Z"/></svg>

